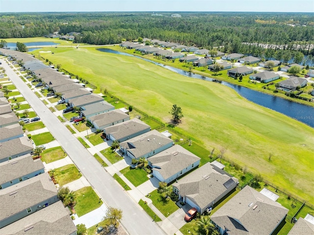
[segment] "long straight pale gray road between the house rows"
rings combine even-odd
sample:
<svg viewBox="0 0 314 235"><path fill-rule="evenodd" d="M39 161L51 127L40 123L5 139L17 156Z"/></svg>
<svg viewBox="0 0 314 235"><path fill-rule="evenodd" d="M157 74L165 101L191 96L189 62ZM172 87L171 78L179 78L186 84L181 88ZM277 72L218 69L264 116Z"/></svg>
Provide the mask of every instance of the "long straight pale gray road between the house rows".
<svg viewBox="0 0 314 235"><path fill-rule="evenodd" d="M99 165L74 135L58 120L49 108L33 93L19 76L0 59L5 73L31 105L45 126L76 164L81 173L96 189L103 201L123 210L121 223L131 235L164 235L140 206L134 202L114 179Z"/></svg>

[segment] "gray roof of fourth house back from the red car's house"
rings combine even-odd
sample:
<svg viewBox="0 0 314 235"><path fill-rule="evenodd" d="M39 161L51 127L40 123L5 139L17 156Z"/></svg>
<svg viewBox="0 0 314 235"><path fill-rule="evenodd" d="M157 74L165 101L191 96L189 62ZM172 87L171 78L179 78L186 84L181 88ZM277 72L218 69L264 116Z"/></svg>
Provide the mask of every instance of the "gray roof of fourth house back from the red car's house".
<svg viewBox="0 0 314 235"><path fill-rule="evenodd" d="M133 118L126 122L107 127L104 129L104 132L111 134L115 139L122 139L146 129L150 129L150 126L137 118Z"/></svg>

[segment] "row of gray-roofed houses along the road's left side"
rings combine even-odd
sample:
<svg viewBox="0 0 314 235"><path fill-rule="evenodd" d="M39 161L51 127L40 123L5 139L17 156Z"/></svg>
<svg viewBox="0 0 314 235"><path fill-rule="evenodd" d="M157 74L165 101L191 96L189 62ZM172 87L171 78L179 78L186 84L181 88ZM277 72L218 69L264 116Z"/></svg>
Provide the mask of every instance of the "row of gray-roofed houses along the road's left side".
<svg viewBox="0 0 314 235"><path fill-rule="evenodd" d="M68 208L0 92L0 234L76 235Z"/></svg>

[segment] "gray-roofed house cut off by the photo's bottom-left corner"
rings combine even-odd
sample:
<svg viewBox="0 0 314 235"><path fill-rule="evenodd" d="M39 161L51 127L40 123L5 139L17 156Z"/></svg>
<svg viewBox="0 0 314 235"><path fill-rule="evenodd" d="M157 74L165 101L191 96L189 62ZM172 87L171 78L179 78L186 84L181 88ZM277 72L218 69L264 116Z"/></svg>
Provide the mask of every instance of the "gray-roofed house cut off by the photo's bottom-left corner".
<svg viewBox="0 0 314 235"><path fill-rule="evenodd" d="M0 229L1 235L77 235L70 210L61 201L32 213Z"/></svg>

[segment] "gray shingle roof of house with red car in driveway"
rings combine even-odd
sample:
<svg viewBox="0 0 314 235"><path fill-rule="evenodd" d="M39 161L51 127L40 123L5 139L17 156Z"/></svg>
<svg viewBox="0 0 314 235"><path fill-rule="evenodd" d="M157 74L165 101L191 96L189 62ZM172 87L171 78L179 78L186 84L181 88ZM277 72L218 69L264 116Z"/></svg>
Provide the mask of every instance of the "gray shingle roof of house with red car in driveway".
<svg viewBox="0 0 314 235"><path fill-rule="evenodd" d="M224 183L229 180L232 180L234 185L238 182L227 172L208 162L180 179L178 183L174 183L173 186L179 189L180 195L193 199L200 208L204 208L228 190Z"/></svg>

